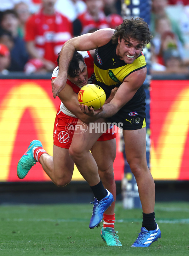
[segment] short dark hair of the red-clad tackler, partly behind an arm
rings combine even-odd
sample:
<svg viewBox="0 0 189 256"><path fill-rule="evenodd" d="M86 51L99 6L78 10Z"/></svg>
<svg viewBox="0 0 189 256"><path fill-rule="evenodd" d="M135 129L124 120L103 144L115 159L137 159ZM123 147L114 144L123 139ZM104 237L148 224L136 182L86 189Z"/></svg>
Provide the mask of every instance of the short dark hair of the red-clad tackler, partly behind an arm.
<svg viewBox="0 0 189 256"><path fill-rule="evenodd" d="M58 58L57 58L57 63L59 65L59 59L60 59L60 52L58 53ZM79 74L80 68L79 68L79 62L82 61L85 65L83 56L75 51L72 57L72 60L70 62L69 68L68 68L68 75L70 77L75 77L76 75Z"/></svg>

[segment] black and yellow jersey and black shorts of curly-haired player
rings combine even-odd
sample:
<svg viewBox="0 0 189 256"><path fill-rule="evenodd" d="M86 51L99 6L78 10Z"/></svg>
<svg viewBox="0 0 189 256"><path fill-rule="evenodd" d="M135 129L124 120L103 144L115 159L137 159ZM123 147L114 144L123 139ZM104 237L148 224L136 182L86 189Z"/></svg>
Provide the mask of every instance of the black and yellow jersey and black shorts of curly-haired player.
<svg viewBox="0 0 189 256"><path fill-rule="evenodd" d="M131 64L120 60L116 55L117 44L112 44L112 40L96 49L94 57L95 84L101 86L106 99L110 96L111 90L122 84L129 74L146 67L144 55L141 53ZM114 116L108 121L122 124L123 130L136 130L146 126L145 118L145 98L144 87L141 85L133 98L131 98ZM116 124L117 125L117 124Z"/></svg>

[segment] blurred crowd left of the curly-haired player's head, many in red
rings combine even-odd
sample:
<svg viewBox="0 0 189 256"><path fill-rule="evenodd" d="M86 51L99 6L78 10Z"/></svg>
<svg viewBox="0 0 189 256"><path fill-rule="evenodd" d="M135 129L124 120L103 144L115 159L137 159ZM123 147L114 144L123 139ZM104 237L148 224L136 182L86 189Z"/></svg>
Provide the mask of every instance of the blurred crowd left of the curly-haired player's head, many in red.
<svg viewBox="0 0 189 256"><path fill-rule="evenodd" d="M6 0L0 5L0 73L52 72L72 37L123 22L117 0Z"/></svg>

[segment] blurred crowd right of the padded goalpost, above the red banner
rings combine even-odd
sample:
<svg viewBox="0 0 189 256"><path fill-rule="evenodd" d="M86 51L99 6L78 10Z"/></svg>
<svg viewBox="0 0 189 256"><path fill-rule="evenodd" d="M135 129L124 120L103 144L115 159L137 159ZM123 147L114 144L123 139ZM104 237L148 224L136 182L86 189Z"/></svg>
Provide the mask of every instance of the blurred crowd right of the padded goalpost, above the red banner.
<svg viewBox="0 0 189 256"><path fill-rule="evenodd" d="M189 74L189 1L152 0L151 74Z"/></svg>

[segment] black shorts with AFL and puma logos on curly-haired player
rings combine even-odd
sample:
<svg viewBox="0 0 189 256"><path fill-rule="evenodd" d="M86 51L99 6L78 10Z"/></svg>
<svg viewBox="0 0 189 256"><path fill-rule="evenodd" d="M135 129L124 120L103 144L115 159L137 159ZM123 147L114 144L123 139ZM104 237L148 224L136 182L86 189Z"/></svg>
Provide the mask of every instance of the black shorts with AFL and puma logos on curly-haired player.
<svg viewBox="0 0 189 256"><path fill-rule="evenodd" d="M99 83L109 97L111 90L116 86L106 86ZM109 90L108 90L108 89ZM143 85L137 90L135 95L126 103L114 116L108 117L108 122L112 122L123 130L138 130L146 127L146 93Z"/></svg>

